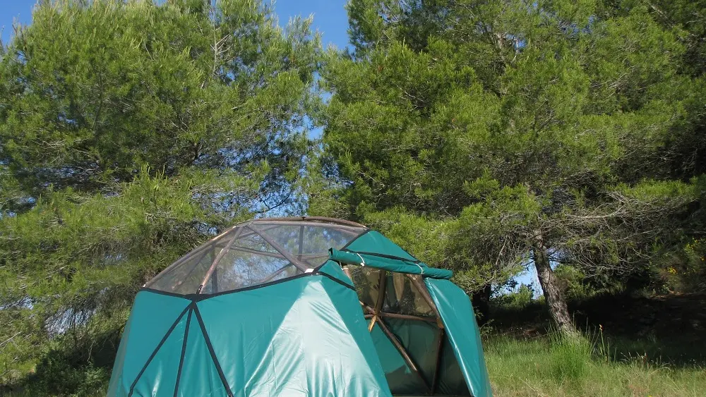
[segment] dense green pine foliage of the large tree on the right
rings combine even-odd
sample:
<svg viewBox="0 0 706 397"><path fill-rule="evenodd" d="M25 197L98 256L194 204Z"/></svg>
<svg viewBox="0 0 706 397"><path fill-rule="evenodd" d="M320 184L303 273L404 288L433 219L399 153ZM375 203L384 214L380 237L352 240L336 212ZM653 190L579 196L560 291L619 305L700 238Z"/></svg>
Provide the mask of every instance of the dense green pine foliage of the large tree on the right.
<svg viewBox="0 0 706 397"><path fill-rule="evenodd" d="M703 18L663 3L350 1L354 51L323 71L338 208L453 225L469 287L546 262L546 295L550 261L659 283L700 230L706 154Z"/></svg>

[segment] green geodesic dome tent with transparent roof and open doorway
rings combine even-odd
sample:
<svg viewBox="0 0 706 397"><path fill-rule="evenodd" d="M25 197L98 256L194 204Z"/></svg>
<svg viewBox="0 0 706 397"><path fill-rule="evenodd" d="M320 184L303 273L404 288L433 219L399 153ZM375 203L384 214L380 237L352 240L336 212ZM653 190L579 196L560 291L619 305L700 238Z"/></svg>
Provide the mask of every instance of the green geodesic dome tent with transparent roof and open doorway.
<svg viewBox="0 0 706 397"><path fill-rule="evenodd" d="M108 396L490 396L450 276L354 222L238 224L143 286Z"/></svg>

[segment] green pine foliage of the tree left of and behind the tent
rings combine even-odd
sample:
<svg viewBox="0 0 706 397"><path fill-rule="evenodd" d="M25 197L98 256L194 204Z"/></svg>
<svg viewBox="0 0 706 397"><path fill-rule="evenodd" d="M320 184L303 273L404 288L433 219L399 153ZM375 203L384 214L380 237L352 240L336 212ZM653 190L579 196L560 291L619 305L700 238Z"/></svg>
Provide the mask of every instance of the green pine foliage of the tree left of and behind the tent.
<svg viewBox="0 0 706 397"><path fill-rule="evenodd" d="M318 37L214 4L42 1L3 47L0 380L68 358L106 377L90 352L115 348L140 285L223 226L297 208Z"/></svg>

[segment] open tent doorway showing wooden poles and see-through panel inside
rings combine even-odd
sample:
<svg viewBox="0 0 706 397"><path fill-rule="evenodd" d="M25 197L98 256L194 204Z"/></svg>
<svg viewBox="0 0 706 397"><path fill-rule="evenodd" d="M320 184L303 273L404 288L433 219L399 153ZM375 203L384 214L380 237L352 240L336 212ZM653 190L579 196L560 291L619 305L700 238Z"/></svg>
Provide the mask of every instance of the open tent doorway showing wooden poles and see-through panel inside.
<svg viewBox="0 0 706 397"><path fill-rule="evenodd" d="M379 269L346 268L365 306L363 312L393 395L470 396L465 379L458 377L460 367L448 338L439 328L441 321L425 298L428 292L421 276L385 271L381 279Z"/></svg>

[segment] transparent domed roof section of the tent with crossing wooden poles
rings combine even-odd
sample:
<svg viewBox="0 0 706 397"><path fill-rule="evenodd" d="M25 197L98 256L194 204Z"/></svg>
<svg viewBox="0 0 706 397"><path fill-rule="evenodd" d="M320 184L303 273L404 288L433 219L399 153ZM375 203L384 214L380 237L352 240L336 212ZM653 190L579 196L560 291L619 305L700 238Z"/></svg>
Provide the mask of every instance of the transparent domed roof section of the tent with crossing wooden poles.
<svg viewBox="0 0 706 397"><path fill-rule="evenodd" d="M209 294L287 279L323 264L329 248L343 248L364 231L313 221L247 222L189 252L147 286Z"/></svg>

